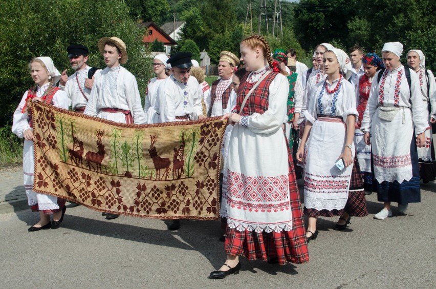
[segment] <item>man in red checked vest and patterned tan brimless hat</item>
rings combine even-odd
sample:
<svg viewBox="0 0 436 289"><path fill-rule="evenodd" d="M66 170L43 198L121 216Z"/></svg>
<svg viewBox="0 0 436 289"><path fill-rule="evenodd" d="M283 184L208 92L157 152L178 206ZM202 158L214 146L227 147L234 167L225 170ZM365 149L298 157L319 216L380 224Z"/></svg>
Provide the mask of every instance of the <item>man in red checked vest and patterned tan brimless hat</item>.
<svg viewBox="0 0 436 289"><path fill-rule="evenodd" d="M232 92L231 83L233 72L235 72L238 65L239 58L236 55L229 51L220 53L218 74L221 78L212 82L212 87L205 99L208 117L224 115L236 105L236 99L234 99L233 107L227 108L228 105L232 106L232 104L229 104Z"/></svg>

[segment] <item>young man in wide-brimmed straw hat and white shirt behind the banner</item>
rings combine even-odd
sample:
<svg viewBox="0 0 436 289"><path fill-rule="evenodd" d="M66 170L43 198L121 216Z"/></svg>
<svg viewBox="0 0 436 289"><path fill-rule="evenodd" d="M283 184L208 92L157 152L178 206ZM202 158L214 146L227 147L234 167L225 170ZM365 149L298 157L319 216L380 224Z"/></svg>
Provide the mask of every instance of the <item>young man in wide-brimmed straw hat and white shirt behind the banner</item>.
<svg viewBox="0 0 436 289"><path fill-rule="evenodd" d="M124 42L118 37L98 40L106 68L95 75L94 87L84 114L120 123L146 123L135 76L121 64L127 62ZM119 215L106 214L106 219Z"/></svg>

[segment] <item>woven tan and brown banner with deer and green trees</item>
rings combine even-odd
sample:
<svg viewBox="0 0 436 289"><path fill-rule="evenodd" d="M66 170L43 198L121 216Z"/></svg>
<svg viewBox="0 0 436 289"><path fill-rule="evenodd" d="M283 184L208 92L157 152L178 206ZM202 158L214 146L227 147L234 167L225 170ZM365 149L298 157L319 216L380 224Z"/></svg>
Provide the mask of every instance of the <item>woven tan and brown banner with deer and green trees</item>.
<svg viewBox="0 0 436 289"><path fill-rule="evenodd" d="M226 121L126 125L38 103L33 190L93 210L218 219Z"/></svg>

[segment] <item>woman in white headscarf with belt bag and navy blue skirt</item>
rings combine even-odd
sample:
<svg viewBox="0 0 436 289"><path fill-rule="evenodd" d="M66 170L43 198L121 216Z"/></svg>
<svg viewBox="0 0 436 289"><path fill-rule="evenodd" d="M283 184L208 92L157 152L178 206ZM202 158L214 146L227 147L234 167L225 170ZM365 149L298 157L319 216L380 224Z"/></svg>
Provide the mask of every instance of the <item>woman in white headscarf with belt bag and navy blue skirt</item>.
<svg viewBox="0 0 436 289"><path fill-rule="evenodd" d="M374 216L380 220L392 216L390 202L398 202L400 213L405 213L408 203L421 201L416 146L425 145L428 114L417 74L400 62L402 52L399 42L384 44L386 69L374 75L360 128L365 143L372 145L374 184L378 200L384 202L383 210Z"/></svg>

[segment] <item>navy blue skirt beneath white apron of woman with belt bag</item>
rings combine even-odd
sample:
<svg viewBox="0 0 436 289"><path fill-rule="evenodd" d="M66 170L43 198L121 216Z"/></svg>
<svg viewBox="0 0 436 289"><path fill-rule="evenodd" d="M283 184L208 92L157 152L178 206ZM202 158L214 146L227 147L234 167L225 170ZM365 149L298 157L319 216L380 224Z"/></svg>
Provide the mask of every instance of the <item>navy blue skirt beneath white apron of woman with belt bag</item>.
<svg viewBox="0 0 436 289"><path fill-rule="evenodd" d="M413 133L415 136L415 132ZM379 183L374 177L373 155L371 154L371 170L373 174L373 189L377 192L379 202L398 202L399 204L421 202L421 183L419 175L418 151L416 138L410 142L410 158L412 162L412 178L409 181Z"/></svg>

